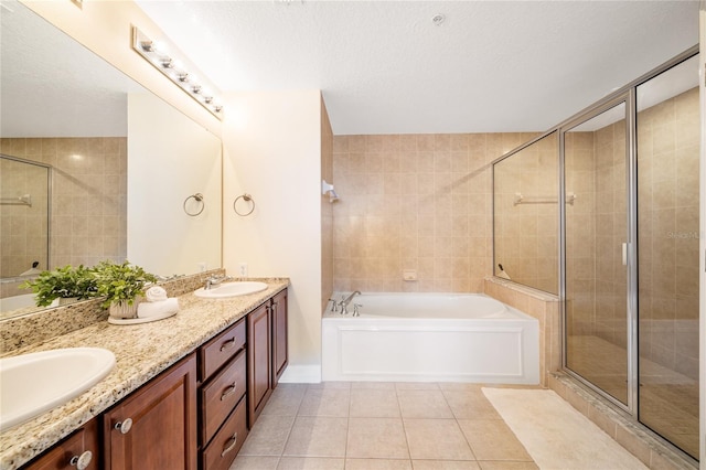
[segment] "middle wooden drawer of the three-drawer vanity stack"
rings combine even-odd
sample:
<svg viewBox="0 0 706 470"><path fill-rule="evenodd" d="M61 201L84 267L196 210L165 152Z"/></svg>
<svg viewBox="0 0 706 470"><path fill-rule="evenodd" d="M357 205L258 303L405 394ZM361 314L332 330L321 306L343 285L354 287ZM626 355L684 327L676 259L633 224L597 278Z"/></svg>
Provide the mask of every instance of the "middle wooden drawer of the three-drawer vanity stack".
<svg viewBox="0 0 706 470"><path fill-rule="evenodd" d="M201 387L201 445L205 446L223 419L245 395L246 356L240 352L223 371Z"/></svg>

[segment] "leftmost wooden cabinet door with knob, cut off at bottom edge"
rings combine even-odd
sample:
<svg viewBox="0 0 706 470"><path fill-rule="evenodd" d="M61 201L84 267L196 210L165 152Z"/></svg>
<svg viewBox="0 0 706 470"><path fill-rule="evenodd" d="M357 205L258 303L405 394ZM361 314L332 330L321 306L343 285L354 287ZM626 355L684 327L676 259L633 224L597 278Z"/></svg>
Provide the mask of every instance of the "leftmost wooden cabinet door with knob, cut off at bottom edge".
<svg viewBox="0 0 706 470"><path fill-rule="evenodd" d="M100 469L98 425L95 419L46 453L22 467L22 470L97 470Z"/></svg>

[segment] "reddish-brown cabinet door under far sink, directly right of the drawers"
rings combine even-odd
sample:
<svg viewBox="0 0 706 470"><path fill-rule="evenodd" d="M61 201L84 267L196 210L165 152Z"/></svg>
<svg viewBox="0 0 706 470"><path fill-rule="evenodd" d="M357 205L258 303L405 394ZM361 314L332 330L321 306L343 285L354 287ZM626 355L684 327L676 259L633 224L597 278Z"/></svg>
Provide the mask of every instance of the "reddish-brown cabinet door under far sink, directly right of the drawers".
<svg viewBox="0 0 706 470"><path fill-rule="evenodd" d="M269 302L247 316L248 426L265 407L271 387L271 327Z"/></svg>

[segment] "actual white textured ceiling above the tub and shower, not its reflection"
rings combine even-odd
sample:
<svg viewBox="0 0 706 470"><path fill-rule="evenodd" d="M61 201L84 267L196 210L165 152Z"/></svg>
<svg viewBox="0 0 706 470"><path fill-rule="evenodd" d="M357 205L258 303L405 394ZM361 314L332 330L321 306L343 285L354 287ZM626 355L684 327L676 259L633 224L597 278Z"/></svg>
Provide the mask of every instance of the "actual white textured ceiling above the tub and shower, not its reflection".
<svg viewBox="0 0 706 470"><path fill-rule="evenodd" d="M137 3L222 92L322 89L336 135L545 130L698 41L697 1Z"/></svg>

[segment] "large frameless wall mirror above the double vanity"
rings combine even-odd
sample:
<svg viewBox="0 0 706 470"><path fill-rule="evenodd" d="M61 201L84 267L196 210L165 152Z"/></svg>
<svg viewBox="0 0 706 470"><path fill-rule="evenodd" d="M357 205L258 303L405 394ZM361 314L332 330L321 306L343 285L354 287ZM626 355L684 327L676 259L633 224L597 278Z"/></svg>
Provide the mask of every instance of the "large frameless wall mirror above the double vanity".
<svg viewBox="0 0 706 470"><path fill-rule="evenodd" d="M8 298L38 270L220 267L221 140L21 3L0 20L0 319L28 312Z"/></svg>

